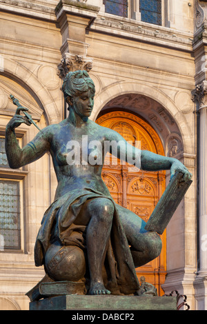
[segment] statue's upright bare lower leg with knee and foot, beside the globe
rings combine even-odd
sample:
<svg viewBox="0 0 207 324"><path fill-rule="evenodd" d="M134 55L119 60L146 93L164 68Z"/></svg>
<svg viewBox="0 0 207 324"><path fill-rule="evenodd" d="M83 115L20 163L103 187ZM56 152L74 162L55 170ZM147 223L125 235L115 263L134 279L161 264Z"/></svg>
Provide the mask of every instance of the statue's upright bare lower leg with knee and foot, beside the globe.
<svg viewBox="0 0 207 324"><path fill-rule="evenodd" d="M95 198L87 201L75 223L88 225L86 245L88 252L88 267L90 270L90 290L88 294L110 294L103 285L102 269L106 256L114 204L110 199Z"/></svg>

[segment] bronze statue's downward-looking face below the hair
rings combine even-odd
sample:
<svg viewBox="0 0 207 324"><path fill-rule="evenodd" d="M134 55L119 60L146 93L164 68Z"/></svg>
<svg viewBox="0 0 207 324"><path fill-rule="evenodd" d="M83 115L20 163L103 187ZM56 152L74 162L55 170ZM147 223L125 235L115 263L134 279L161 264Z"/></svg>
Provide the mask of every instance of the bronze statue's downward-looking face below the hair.
<svg viewBox="0 0 207 324"><path fill-rule="evenodd" d="M82 92L79 96L75 97L73 107L75 112L81 117L90 117L94 105L95 93L92 90Z"/></svg>

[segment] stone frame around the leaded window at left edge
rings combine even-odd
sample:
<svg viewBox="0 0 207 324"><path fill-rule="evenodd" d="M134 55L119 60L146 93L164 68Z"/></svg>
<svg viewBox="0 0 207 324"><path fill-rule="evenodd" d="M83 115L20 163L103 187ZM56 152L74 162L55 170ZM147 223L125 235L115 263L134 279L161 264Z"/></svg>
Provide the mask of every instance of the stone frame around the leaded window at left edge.
<svg viewBox="0 0 207 324"><path fill-rule="evenodd" d="M22 147L23 145L23 135L24 132L16 132L17 139L19 141L19 146ZM0 130L0 137L5 138L5 130ZM19 231L20 231L20 238L19 238L19 247L11 248L11 247L4 247L3 239L1 238L1 246L0 246L0 253L16 253L16 252L24 252L24 241L25 241L25 212L24 212L24 180L28 171L25 168L19 169L11 169L9 167L1 167L0 166L0 179L1 181L17 181L19 183L19 196L20 196L20 218L19 218ZM1 230L0 230L1 234Z"/></svg>

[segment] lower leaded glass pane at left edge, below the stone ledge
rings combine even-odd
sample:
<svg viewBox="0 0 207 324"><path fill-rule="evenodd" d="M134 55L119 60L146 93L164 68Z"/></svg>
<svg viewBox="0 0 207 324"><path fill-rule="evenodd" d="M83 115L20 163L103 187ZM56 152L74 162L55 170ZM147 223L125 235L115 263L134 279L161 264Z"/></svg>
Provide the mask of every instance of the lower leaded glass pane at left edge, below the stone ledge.
<svg viewBox="0 0 207 324"><path fill-rule="evenodd" d="M1 250L20 249L19 181L0 180L0 236Z"/></svg>

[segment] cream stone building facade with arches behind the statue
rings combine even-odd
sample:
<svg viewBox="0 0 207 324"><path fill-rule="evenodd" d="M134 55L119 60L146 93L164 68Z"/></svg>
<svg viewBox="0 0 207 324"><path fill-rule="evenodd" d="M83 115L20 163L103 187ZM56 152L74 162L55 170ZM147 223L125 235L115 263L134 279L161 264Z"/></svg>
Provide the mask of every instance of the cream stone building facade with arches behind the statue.
<svg viewBox="0 0 207 324"><path fill-rule="evenodd" d="M158 26L141 21L139 0L128 1L128 17L105 12L103 2L0 1L0 135L15 111L10 93L43 128L66 117L60 91L66 72L90 71L91 119L113 103L135 112L155 129L165 154L193 174L167 228L163 289L186 294L191 310L206 310L207 3L162 0ZM35 134L26 125L17 130L21 145ZM34 267L34 242L57 181L48 154L22 170L0 168L0 178L19 181L22 199L21 247L0 251L0 309L28 310L25 294L44 273Z"/></svg>

